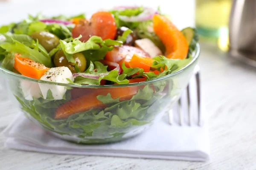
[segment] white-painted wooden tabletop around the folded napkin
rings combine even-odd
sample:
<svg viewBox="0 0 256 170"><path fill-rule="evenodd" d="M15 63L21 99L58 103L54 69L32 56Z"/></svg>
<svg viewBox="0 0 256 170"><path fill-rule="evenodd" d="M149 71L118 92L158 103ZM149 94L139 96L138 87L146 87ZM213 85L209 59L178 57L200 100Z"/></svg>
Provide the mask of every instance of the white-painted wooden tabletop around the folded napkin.
<svg viewBox="0 0 256 170"><path fill-rule="evenodd" d="M5 138L1 135L0 169L256 170L256 69L228 58L215 48L202 45L202 49L201 81L206 114L209 115L211 161L189 162L24 152L4 148ZM7 105L3 106L4 103ZM0 101L0 131L12 121L15 111L12 102Z"/></svg>

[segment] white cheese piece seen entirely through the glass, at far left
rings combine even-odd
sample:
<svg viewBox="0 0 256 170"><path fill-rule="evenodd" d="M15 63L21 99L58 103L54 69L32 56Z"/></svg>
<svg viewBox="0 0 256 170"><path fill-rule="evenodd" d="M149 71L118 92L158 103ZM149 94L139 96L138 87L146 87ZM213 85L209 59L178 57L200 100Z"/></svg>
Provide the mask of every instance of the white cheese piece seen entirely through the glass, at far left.
<svg viewBox="0 0 256 170"><path fill-rule="evenodd" d="M37 82L21 80L20 88L26 100L33 100L33 97L38 99L40 97L41 90Z"/></svg>

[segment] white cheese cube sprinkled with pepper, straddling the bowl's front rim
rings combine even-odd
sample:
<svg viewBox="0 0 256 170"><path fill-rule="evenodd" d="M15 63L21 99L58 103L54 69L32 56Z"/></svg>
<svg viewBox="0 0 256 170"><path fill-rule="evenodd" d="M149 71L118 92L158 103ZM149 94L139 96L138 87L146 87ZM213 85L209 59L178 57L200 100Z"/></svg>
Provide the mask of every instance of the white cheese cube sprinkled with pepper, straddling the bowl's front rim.
<svg viewBox="0 0 256 170"><path fill-rule="evenodd" d="M49 82L59 82L59 83L68 83L67 78L71 81L74 81L73 75L69 68L67 67L55 67L49 69L42 77L41 80ZM42 95L44 99L47 98L47 92L50 90L52 92L52 97L55 100L61 100L64 97L67 89L65 86L61 85L51 85L46 83L39 83Z"/></svg>

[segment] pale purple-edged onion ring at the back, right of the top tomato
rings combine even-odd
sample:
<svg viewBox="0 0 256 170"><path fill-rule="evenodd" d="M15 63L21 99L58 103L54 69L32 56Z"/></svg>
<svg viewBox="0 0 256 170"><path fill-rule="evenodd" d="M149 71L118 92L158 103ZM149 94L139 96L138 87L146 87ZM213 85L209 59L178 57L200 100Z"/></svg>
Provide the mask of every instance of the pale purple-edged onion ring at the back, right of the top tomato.
<svg viewBox="0 0 256 170"><path fill-rule="evenodd" d="M138 7L131 6L130 8L134 9ZM119 6L119 7L116 7L116 9L124 10L124 9L129 9L129 7ZM126 22L146 21L146 20L151 20L154 17L154 14L158 14L158 12L155 11L153 8L144 8L143 12L137 16L127 17L127 16L120 15L119 19Z"/></svg>

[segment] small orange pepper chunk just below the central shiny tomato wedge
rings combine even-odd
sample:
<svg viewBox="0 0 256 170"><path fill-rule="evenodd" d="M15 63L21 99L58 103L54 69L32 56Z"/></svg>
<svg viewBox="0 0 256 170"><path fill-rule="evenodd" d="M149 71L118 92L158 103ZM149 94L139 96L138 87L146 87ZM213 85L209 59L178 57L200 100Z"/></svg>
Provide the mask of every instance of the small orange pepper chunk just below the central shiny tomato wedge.
<svg viewBox="0 0 256 170"><path fill-rule="evenodd" d="M151 65L153 64L154 59L141 57L137 54L134 54L129 62L131 68L143 68L144 72L149 72Z"/></svg>

